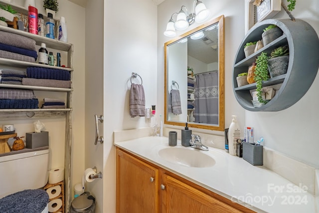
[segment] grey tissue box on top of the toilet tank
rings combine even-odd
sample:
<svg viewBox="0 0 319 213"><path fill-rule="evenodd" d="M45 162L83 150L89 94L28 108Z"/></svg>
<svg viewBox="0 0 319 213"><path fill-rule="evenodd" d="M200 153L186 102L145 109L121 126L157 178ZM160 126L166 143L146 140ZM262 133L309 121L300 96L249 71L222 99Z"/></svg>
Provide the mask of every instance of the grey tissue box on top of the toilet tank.
<svg viewBox="0 0 319 213"><path fill-rule="evenodd" d="M27 132L25 133L25 144L28 149L49 146L49 132Z"/></svg>

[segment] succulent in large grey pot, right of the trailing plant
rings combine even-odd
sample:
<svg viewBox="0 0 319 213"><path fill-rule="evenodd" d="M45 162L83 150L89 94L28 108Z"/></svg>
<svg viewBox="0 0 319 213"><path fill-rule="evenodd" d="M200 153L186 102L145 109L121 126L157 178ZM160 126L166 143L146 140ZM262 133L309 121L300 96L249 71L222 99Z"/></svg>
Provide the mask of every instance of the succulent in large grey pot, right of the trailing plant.
<svg viewBox="0 0 319 213"><path fill-rule="evenodd" d="M276 77L287 73L289 63L289 47L287 45L274 49L268 59L270 76Z"/></svg>

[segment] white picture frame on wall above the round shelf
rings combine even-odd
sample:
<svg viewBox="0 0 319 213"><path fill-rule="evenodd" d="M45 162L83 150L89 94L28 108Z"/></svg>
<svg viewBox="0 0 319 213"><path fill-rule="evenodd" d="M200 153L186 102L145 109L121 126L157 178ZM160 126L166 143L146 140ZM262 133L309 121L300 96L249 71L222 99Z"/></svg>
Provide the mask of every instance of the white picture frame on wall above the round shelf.
<svg viewBox="0 0 319 213"><path fill-rule="evenodd" d="M255 6L254 1L248 1L248 29L281 11L281 0L263 0L259 6Z"/></svg>

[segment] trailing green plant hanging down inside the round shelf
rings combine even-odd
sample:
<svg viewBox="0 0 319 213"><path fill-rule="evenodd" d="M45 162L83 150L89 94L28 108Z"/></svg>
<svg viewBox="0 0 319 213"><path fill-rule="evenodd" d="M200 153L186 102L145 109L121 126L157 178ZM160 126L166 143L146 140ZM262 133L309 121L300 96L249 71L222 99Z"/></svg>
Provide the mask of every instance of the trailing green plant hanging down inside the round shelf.
<svg viewBox="0 0 319 213"><path fill-rule="evenodd" d="M255 68L255 76L254 80L256 82L256 91L258 96L258 101L260 103L266 103L266 101L262 98L262 81L266 81L269 78L268 71L268 59L266 52L262 52L256 59L256 68Z"/></svg>

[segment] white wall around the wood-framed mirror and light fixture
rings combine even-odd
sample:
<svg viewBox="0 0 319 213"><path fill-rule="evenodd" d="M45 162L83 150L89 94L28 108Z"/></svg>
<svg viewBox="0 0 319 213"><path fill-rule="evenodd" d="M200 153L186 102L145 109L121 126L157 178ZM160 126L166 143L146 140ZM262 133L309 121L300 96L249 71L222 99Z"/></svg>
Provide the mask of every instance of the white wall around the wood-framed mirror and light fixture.
<svg viewBox="0 0 319 213"><path fill-rule="evenodd" d="M186 0L165 0L158 6L158 105L160 111L163 112L163 100L164 100L164 42L169 41L172 37L166 37L163 32L166 28L166 24L172 13L178 12L181 5L185 5L191 10L192 1ZM203 0L203 3L212 13L212 18L216 18L220 15L225 16L225 128L229 127L231 123L231 116L237 115L238 121L241 126L245 125L245 110L237 103L232 90L232 66L234 63L234 57L239 44L245 34L245 19L244 11L245 5L244 0L220 0L211 1ZM174 17L175 18L175 17ZM200 24L194 23L184 31L176 31L177 35L180 35L190 29L197 27ZM176 127L166 125L178 129L182 127ZM195 129L195 128L194 128ZM210 131L196 129L198 132L224 135L224 132Z"/></svg>

